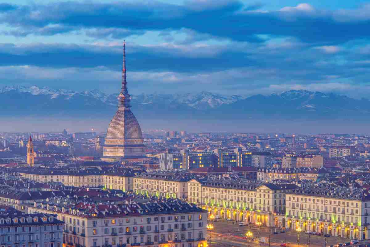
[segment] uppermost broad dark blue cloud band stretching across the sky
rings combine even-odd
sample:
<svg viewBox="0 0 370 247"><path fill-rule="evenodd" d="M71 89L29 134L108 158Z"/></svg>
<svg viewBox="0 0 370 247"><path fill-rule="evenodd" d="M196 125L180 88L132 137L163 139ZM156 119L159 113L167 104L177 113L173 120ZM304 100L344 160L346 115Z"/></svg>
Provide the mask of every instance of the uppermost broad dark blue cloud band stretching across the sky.
<svg viewBox="0 0 370 247"><path fill-rule="evenodd" d="M129 32L188 29L211 37L248 42L260 42L256 35L270 34L296 37L317 45L335 45L370 36L367 32L369 5L354 10L323 11L302 3L276 11L250 11L258 8L259 4L245 6L240 1L226 0L186 1L184 5L155 1L147 4L69 1L14 6L13 10L0 15L0 23L22 29L42 28L50 24L74 27L75 30ZM346 30L346 35L343 35L343 30ZM115 36L115 32L112 32L112 38L125 35L119 33ZM39 32L40 35L54 33ZM102 37L98 32L96 35Z"/></svg>

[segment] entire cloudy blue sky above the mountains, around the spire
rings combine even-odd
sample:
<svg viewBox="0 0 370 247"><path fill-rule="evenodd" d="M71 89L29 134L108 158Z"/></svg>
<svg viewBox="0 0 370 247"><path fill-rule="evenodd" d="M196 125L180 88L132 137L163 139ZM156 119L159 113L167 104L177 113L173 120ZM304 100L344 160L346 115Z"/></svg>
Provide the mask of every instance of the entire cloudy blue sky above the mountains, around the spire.
<svg viewBox="0 0 370 247"><path fill-rule="evenodd" d="M0 1L0 88L368 97L370 1Z"/></svg>

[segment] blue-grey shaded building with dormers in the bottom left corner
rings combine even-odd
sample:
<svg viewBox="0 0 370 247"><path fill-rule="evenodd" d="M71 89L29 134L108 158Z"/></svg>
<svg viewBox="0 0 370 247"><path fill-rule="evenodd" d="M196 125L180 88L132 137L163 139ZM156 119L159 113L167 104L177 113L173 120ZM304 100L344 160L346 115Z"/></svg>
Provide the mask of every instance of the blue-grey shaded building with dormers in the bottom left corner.
<svg viewBox="0 0 370 247"><path fill-rule="evenodd" d="M0 215L1 245L62 247L63 226L56 214Z"/></svg>

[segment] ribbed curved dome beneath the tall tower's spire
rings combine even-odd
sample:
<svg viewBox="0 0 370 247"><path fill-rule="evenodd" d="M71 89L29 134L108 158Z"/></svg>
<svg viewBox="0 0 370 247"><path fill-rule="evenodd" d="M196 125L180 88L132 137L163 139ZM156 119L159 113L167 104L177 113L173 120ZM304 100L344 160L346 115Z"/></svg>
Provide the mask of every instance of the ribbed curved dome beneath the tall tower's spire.
<svg viewBox="0 0 370 247"><path fill-rule="evenodd" d="M106 139L142 139L138 120L131 110L118 110L109 124Z"/></svg>

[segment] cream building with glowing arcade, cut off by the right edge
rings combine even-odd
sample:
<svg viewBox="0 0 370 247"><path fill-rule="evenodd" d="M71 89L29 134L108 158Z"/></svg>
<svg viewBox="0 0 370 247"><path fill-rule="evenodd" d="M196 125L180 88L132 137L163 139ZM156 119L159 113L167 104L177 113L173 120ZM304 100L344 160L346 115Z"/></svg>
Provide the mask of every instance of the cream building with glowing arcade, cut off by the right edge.
<svg viewBox="0 0 370 247"><path fill-rule="evenodd" d="M276 223L335 237L369 239L369 191L319 185L286 194L286 212Z"/></svg>

